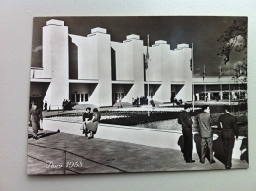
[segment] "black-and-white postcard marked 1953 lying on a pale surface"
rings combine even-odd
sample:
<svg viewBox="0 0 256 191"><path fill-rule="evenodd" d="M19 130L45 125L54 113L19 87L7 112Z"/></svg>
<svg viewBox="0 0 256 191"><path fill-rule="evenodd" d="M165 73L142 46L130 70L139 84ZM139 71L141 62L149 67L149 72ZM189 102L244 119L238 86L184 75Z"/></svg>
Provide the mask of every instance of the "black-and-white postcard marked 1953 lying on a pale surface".
<svg viewBox="0 0 256 191"><path fill-rule="evenodd" d="M27 174L247 170L247 38L242 16L34 17Z"/></svg>

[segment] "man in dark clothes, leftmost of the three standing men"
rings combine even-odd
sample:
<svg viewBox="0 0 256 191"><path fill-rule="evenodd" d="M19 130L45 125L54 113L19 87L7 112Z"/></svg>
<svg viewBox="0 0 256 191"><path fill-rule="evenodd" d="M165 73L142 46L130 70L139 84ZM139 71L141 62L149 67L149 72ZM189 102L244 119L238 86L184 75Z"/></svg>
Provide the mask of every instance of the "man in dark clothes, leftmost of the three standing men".
<svg viewBox="0 0 256 191"><path fill-rule="evenodd" d="M184 111L179 114L178 123L182 125L182 134L184 137L183 156L186 163L194 163L192 159L193 134L192 134L192 117L190 114L191 104L185 103Z"/></svg>

